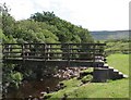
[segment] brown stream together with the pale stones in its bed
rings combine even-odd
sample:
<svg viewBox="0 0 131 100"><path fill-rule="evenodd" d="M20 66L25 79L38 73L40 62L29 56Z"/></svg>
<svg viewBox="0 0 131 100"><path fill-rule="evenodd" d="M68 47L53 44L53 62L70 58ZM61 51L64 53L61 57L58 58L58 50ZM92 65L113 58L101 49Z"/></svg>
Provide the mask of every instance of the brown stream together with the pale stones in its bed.
<svg viewBox="0 0 131 100"><path fill-rule="evenodd" d="M58 70L50 76L43 77L40 80L23 80L17 90L9 90L7 98L40 97L40 93L45 92L47 87L52 92L61 80L79 77L83 70L86 70L86 67L66 67Z"/></svg>

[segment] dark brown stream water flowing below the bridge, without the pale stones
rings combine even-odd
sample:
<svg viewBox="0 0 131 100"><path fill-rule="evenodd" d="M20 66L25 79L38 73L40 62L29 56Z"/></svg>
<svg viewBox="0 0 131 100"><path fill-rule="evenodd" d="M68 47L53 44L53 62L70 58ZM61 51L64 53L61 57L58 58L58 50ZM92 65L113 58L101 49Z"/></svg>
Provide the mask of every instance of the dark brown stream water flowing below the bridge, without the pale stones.
<svg viewBox="0 0 131 100"><path fill-rule="evenodd" d="M38 82L24 82L19 90L11 91L7 98L27 98L28 96L39 97L41 91L46 91L47 87L53 91L56 86L62 79L50 77Z"/></svg>

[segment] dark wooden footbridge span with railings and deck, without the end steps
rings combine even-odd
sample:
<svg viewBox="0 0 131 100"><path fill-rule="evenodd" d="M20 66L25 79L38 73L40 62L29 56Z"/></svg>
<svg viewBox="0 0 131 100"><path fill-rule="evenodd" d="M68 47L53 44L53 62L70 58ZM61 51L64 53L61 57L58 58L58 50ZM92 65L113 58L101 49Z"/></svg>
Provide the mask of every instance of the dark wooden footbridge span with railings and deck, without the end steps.
<svg viewBox="0 0 131 100"><path fill-rule="evenodd" d="M105 43L4 43L3 63L103 66Z"/></svg>

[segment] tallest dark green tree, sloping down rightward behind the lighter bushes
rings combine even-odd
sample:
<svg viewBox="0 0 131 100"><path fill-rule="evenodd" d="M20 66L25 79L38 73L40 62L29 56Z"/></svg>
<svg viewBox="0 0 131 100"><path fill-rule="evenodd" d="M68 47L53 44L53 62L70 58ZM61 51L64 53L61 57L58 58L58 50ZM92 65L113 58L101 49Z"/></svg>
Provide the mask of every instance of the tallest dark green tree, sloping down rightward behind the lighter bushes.
<svg viewBox="0 0 131 100"><path fill-rule="evenodd" d="M56 32L51 29L51 33L59 38L60 42L93 42L87 29L59 18L53 12L35 13L31 16L31 20L45 22L49 26L56 27Z"/></svg>

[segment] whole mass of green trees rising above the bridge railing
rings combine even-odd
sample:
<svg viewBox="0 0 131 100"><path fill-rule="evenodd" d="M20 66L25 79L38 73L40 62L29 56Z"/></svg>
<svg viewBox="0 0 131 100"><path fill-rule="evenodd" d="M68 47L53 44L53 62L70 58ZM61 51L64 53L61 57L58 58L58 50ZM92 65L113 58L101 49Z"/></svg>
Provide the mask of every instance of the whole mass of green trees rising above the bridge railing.
<svg viewBox="0 0 131 100"><path fill-rule="evenodd" d="M15 21L3 5L1 10L2 30L0 36L3 43L24 42L93 42L86 28L76 26L56 16L53 12L34 13L27 20Z"/></svg>

